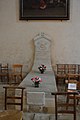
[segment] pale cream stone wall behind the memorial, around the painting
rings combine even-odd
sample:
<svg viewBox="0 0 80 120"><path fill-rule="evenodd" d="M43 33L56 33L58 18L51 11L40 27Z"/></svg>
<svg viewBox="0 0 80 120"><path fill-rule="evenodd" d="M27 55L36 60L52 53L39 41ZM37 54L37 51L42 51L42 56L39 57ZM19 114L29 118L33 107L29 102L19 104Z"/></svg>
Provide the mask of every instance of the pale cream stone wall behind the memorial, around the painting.
<svg viewBox="0 0 80 120"><path fill-rule="evenodd" d="M0 0L0 62L33 65L33 38L41 32L52 38L52 65L80 63L80 0L70 0L68 21L19 21L19 0Z"/></svg>

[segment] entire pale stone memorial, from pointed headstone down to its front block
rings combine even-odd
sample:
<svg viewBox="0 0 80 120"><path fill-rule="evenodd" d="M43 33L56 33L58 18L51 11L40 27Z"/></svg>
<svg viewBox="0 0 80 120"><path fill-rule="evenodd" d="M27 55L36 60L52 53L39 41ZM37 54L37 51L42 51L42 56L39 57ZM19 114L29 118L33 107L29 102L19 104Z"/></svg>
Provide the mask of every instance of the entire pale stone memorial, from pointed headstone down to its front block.
<svg viewBox="0 0 80 120"><path fill-rule="evenodd" d="M51 98L53 100L54 98L51 93L56 92L57 87L54 71L52 70L51 65L51 38L45 33L40 33L34 37L33 40L35 46L34 64L31 72L24 78L20 86L26 88L26 94L34 92L33 94L30 93L25 97L28 97L27 99L29 103L39 105L44 104L47 98ZM43 74L41 74L38 69L41 64L46 66L46 71ZM42 82L39 84L39 88L35 88L34 83L31 81L31 78L34 78L35 76L42 79ZM44 94L41 94L41 92L45 93L45 99ZM34 96L38 98L36 102Z"/></svg>

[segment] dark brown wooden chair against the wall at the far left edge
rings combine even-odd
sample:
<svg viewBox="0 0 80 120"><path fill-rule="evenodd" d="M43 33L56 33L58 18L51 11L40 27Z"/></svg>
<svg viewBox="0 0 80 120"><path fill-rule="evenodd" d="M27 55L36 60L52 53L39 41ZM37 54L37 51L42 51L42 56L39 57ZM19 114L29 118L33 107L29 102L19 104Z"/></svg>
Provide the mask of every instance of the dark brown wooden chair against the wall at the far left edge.
<svg viewBox="0 0 80 120"><path fill-rule="evenodd" d="M8 64L0 64L0 77L1 81L9 82L9 66Z"/></svg>

